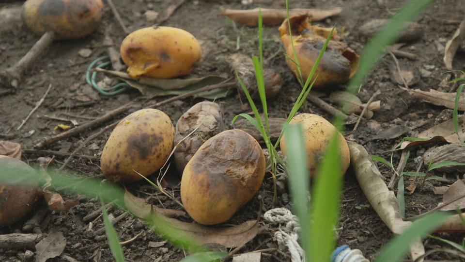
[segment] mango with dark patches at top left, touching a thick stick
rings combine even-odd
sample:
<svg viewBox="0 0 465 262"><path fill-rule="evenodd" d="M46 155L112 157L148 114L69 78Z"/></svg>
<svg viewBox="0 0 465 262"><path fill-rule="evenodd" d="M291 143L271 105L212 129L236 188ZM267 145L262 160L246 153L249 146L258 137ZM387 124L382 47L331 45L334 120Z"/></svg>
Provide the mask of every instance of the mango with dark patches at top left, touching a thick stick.
<svg viewBox="0 0 465 262"><path fill-rule="evenodd" d="M27 0L23 20L36 35L55 32L55 39L81 38L100 24L102 0Z"/></svg>

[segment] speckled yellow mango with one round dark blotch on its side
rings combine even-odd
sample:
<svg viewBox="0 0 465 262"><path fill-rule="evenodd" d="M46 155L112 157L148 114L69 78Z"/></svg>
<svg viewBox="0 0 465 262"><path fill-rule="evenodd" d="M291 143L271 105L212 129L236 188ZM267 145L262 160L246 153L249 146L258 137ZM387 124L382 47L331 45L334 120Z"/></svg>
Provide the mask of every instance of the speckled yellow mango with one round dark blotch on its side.
<svg viewBox="0 0 465 262"><path fill-rule="evenodd" d="M157 109L142 109L115 127L103 148L100 167L117 183L132 183L160 169L173 149L174 126ZM135 170L135 171L133 171Z"/></svg>

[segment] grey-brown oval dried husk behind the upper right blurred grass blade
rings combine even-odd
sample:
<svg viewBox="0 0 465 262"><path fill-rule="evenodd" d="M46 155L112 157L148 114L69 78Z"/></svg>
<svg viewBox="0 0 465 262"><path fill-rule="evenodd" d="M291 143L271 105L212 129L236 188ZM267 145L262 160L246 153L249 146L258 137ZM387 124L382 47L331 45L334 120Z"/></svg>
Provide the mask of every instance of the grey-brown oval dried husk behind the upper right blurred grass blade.
<svg viewBox="0 0 465 262"><path fill-rule="evenodd" d="M389 23L388 19L372 19L364 23L359 29L359 33L364 36L372 36L381 31ZM423 27L414 22L407 22L405 28L400 33L397 42L411 42L423 36Z"/></svg>

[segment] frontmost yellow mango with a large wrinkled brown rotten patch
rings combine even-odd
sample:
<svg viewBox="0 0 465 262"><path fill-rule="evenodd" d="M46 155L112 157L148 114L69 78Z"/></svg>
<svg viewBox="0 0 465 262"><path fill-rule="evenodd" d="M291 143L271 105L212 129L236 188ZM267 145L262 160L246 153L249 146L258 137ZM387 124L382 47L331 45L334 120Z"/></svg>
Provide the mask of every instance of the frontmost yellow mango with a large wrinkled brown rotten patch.
<svg viewBox="0 0 465 262"><path fill-rule="evenodd" d="M229 220L257 193L265 174L265 157L255 138L242 130L223 131L208 139L187 163L181 199L199 224Z"/></svg>

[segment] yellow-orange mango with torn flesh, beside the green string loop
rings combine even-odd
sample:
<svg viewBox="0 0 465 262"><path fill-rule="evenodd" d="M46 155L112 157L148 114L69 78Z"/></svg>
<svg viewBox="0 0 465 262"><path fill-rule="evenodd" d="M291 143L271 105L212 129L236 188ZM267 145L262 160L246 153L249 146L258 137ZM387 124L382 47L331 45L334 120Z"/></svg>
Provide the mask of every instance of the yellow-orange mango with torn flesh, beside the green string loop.
<svg viewBox="0 0 465 262"><path fill-rule="evenodd" d="M192 72L202 58L197 39L189 32L168 26L142 28L121 43L121 57L132 78L174 78Z"/></svg>

